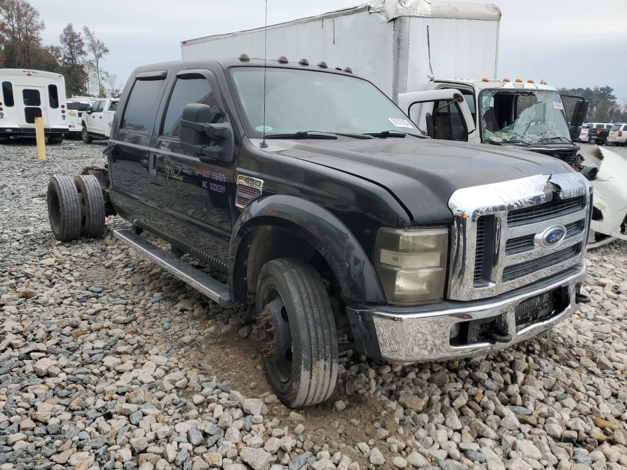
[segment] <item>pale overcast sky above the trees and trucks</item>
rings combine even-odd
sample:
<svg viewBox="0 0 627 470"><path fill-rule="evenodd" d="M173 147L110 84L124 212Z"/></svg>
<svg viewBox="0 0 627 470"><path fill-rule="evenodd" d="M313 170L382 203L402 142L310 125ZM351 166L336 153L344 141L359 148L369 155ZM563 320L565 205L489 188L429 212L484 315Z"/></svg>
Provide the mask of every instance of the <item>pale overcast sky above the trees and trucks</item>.
<svg viewBox="0 0 627 470"><path fill-rule="evenodd" d="M94 29L111 51L102 66L121 83L136 66L180 59L179 41L263 26L263 0L83 0L72 8L50 0L30 2L46 22L46 44L58 44L70 22ZM359 3L270 0L268 24ZM495 3L503 14L497 78L543 78L567 88L609 85L619 103L627 102L626 0Z"/></svg>

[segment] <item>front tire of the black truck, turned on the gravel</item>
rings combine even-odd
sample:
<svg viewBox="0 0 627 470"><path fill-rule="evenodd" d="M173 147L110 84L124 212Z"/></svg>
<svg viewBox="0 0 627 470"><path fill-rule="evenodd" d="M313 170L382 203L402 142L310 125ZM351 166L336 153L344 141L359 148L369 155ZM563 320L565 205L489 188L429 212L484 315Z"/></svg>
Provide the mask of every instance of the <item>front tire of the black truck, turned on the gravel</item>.
<svg viewBox="0 0 627 470"><path fill-rule="evenodd" d="M256 292L257 332L270 387L290 408L329 399L337 380L337 332L329 295L313 266L268 261Z"/></svg>

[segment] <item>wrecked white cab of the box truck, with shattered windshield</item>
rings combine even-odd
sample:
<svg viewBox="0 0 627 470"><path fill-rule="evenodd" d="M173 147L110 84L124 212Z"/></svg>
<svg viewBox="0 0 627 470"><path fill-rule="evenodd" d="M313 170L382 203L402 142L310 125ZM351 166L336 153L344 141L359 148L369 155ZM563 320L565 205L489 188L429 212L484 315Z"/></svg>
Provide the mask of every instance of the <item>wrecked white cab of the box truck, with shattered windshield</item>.
<svg viewBox="0 0 627 470"><path fill-rule="evenodd" d="M399 93L398 102L429 137L513 146L551 155L588 174L594 186L589 248L627 240L627 164L609 150L588 159L572 142L587 102L533 80L429 80L428 91ZM455 99L456 98L456 99Z"/></svg>

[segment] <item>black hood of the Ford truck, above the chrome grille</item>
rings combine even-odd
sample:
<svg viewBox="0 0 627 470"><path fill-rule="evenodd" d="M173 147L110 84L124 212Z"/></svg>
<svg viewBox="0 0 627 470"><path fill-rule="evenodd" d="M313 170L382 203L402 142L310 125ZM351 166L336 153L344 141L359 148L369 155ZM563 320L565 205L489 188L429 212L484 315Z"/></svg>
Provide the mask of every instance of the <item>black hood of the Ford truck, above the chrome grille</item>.
<svg viewBox="0 0 627 470"><path fill-rule="evenodd" d="M421 224L448 224L448 200L464 187L572 168L554 157L492 145L413 137L268 140L275 151L381 185Z"/></svg>

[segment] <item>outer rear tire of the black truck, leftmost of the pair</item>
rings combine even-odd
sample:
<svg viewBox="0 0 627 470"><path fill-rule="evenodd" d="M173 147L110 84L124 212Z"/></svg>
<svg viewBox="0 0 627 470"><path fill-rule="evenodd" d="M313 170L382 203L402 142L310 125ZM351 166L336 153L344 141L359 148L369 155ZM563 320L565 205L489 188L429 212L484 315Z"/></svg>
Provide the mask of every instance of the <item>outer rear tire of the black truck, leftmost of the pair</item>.
<svg viewBox="0 0 627 470"><path fill-rule="evenodd" d="M48 181L48 218L55 238L71 241L80 236L80 199L70 176L53 176Z"/></svg>

